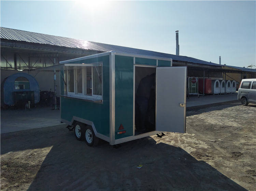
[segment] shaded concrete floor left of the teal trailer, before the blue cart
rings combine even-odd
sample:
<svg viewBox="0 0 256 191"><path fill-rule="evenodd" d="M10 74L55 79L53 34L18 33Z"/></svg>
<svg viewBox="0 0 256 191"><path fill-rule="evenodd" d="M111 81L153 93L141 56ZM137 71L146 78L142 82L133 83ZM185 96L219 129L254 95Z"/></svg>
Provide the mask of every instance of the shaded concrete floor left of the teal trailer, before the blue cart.
<svg viewBox="0 0 256 191"><path fill-rule="evenodd" d="M60 123L60 111L51 107L35 107L27 111L1 109L1 134L60 124L63 124Z"/></svg>

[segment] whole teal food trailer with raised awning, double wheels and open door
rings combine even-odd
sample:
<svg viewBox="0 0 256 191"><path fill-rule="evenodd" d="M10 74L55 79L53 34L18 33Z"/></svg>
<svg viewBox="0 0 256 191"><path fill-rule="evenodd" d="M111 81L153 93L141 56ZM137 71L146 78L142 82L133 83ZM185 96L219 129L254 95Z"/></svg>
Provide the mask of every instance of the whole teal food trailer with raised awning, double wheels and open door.
<svg viewBox="0 0 256 191"><path fill-rule="evenodd" d="M89 146L185 133L187 68L171 58L111 51L52 68L60 72L60 120Z"/></svg>

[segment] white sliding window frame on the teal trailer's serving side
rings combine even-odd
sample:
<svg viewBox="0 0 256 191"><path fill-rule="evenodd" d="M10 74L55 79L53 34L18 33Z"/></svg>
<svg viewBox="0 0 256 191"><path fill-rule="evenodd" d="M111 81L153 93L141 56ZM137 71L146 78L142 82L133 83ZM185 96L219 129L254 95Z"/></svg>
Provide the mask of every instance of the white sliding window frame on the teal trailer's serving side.
<svg viewBox="0 0 256 191"><path fill-rule="evenodd" d="M95 63L93 63L95 64ZM103 95L103 65L102 62L97 63L100 65L96 65L96 66L101 66L101 94ZM88 99L88 100L103 100L103 96L102 95L95 95L94 94L94 74L93 74L93 68L96 67L90 64L90 66L84 66L82 67L82 92L83 93L78 93L77 92L77 69L78 67L74 66L72 68L70 68L70 66L68 68L66 68L64 70L67 71L67 95L70 97L74 97L74 98L79 98L79 99ZM91 69L91 94L92 95L86 95L86 70L87 69ZM74 92L69 92L69 76L68 76L68 71L69 70L74 70Z"/></svg>

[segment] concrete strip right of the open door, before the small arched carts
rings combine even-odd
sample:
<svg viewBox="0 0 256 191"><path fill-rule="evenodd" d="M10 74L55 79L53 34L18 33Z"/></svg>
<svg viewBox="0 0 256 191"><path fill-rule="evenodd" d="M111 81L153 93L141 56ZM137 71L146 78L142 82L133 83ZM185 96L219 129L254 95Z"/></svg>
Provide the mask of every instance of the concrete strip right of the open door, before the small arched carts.
<svg viewBox="0 0 256 191"><path fill-rule="evenodd" d="M221 103L237 100L237 93L230 94L221 94L221 95L202 95L197 97L197 95L190 95L190 98L187 98L187 107L199 106L199 105L208 105L213 103Z"/></svg>

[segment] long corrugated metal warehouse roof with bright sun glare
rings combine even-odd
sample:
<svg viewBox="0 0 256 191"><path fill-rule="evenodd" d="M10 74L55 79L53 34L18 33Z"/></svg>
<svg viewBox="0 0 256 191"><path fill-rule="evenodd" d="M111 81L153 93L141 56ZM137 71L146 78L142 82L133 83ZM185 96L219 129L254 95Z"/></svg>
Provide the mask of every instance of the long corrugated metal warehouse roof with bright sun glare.
<svg viewBox="0 0 256 191"><path fill-rule="evenodd" d="M74 38L53 36L53 35L47 35L47 34L41 34L41 33L34 33L34 32L10 29L5 27L1 27L0 36L1 38L8 39L8 40L25 41L25 42L53 45L53 46L59 46L59 47L79 48L84 50L96 50L96 51L102 51L102 52L108 52L108 51L126 52L126 53L141 54L141 55L148 55L148 56L168 57L168 58L172 58L173 60L178 60L183 62L219 66L218 64L215 64L215 63L207 62L204 60L200 60L200 59L196 59L188 56L177 56L174 54L167 54L167 53L161 53L161 52L155 52L155 51L149 51L149 50L109 45L109 44L103 44L99 42L78 40Z"/></svg>

